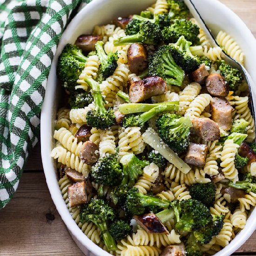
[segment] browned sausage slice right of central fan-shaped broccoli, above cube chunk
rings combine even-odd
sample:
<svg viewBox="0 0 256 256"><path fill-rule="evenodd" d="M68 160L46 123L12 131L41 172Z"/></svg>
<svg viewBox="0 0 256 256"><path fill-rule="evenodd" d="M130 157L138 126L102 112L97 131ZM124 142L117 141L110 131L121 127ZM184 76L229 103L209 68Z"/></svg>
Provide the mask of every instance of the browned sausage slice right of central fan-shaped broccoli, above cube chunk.
<svg viewBox="0 0 256 256"><path fill-rule="evenodd" d="M207 117L192 120L192 133L205 141L215 141L221 136L219 126Z"/></svg>

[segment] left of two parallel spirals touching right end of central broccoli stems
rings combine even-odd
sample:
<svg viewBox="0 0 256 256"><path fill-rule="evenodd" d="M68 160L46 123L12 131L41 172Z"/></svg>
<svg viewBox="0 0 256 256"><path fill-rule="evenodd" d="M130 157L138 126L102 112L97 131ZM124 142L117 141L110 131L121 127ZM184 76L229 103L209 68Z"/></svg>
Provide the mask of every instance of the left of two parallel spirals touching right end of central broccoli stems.
<svg viewBox="0 0 256 256"><path fill-rule="evenodd" d="M201 85L193 82L186 86L179 95L180 109L179 114L184 115L189 108L189 104L194 101L195 97L200 93Z"/></svg>

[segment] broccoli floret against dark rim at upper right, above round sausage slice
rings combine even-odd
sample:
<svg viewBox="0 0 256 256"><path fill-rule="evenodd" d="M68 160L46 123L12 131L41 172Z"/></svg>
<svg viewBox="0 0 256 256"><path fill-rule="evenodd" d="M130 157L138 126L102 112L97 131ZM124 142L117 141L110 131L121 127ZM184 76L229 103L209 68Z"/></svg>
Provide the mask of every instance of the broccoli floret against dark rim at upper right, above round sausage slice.
<svg viewBox="0 0 256 256"><path fill-rule="evenodd" d="M219 70L221 71L221 75L227 81L229 89L236 91L243 81L241 72L236 67L231 67L229 64L225 63L225 61L222 61Z"/></svg>

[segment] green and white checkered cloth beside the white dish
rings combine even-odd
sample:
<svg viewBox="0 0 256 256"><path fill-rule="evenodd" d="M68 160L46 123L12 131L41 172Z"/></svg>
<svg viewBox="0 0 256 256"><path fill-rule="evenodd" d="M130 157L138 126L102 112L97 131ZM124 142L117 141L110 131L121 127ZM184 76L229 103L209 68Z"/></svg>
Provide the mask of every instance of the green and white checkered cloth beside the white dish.
<svg viewBox="0 0 256 256"><path fill-rule="evenodd" d="M0 0L0 209L40 135L47 77L81 0Z"/></svg>

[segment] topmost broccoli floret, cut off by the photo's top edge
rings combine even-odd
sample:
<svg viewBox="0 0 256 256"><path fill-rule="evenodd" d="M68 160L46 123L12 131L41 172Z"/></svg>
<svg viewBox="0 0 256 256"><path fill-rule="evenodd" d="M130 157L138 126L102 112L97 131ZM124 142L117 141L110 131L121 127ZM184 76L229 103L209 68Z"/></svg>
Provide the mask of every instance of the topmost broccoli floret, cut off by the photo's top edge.
<svg viewBox="0 0 256 256"><path fill-rule="evenodd" d="M169 16L172 19L186 19L189 17L189 8L181 0L168 0Z"/></svg>

